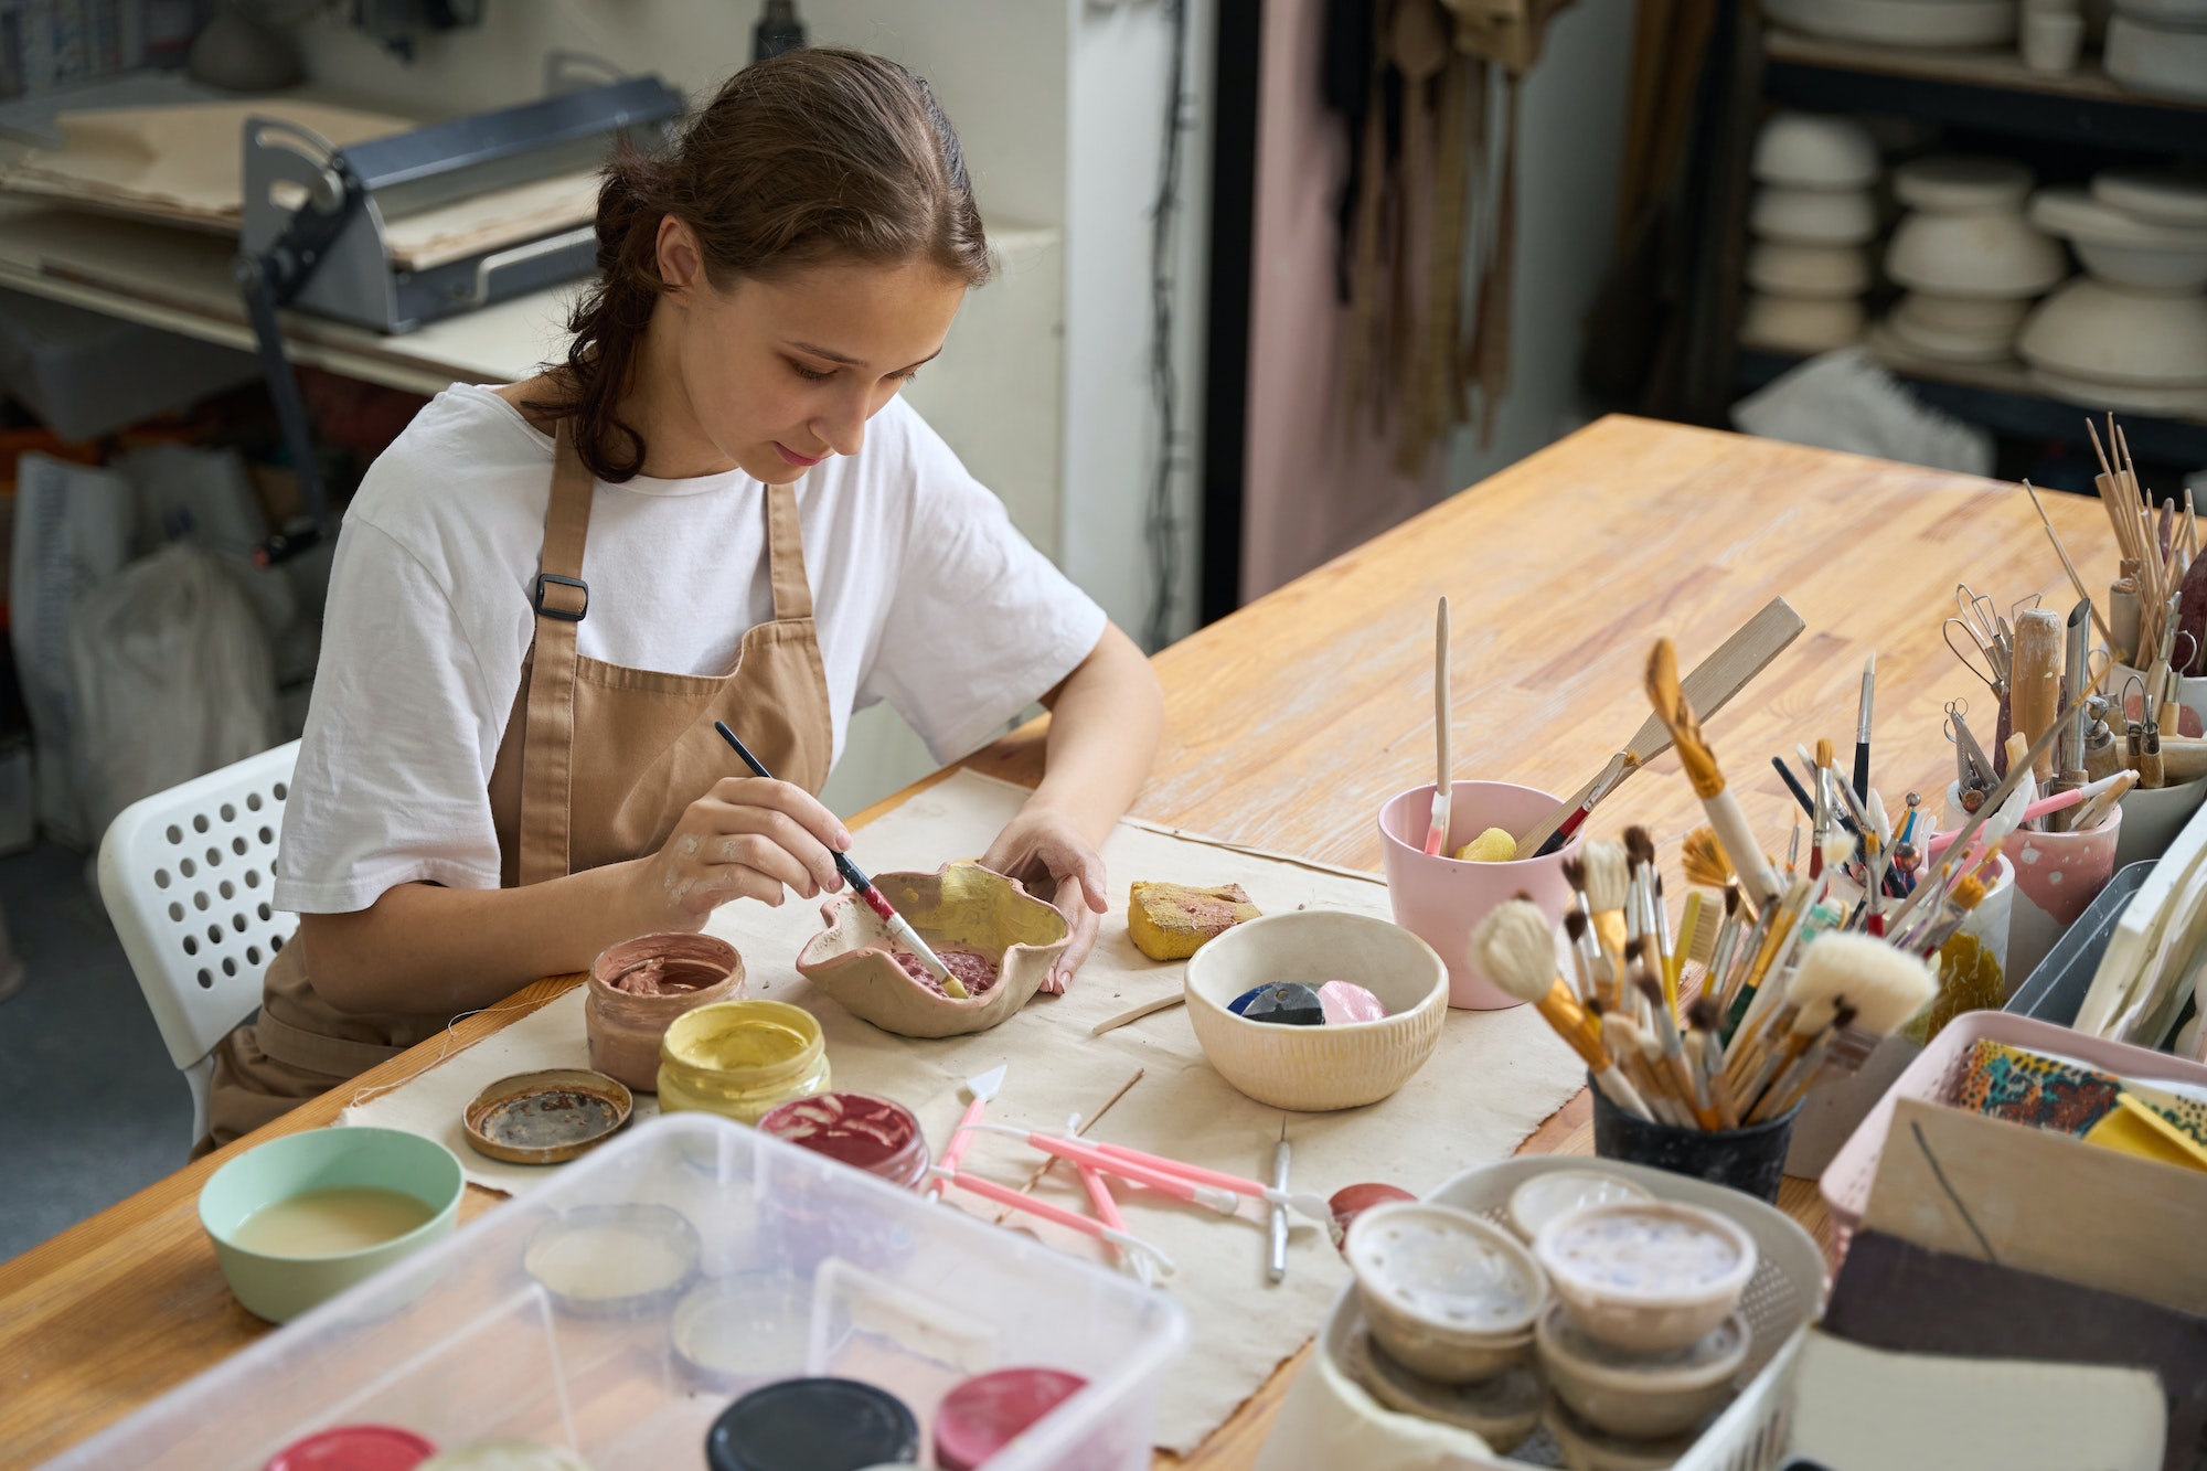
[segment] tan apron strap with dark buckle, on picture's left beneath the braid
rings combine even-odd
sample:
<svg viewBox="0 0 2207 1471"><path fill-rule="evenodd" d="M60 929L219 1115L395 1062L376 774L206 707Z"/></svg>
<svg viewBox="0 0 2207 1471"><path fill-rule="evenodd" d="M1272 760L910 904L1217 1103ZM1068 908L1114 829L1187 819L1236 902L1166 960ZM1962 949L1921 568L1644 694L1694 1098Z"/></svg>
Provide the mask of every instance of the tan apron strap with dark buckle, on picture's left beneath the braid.
<svg viewBox="0 0 2207 1471"><path fill-rule="evenodd" d="M521 727L521 855L523 883L567 877L567 824L574 806L574 663L576 634L589 612L583 581L583 541L596 481L574 453L563 420L552 457L552 501L545 506L545 546L534 583L536 652L530 660L530 705Z"/></svg>

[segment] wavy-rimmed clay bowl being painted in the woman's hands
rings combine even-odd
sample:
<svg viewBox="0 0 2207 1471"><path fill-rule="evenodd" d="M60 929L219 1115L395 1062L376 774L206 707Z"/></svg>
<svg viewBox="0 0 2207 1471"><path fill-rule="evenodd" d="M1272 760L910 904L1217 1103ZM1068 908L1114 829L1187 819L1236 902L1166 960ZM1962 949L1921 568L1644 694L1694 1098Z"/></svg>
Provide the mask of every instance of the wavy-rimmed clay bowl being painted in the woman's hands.
<svg viewBox="0 0 2207 1471"><path fill-rule="evenodd" d="M896 1036L964 1036L995 1027L1042 990L1073 939L1064 914L1017 879L980 864L876 872L874 888L938 952L973 950L998 972L995 985L964 1001L920 985L889 959L874 912L854 895L836 895L821 906L828 928L799 952L797 970L845 1012Z"/></svg>

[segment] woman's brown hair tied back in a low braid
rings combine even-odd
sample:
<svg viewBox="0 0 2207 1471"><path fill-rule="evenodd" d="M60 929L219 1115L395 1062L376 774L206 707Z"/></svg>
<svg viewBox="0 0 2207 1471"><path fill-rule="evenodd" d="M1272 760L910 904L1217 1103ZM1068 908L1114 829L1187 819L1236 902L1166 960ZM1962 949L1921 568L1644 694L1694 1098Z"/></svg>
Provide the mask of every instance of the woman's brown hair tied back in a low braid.
<svg viewBox="0 0 2207 1471"><path fill-rule="evenodd" d="M567 320L554 371L565 393L530 404L574 420L589 473L631 479L642 435L620 417L651 309L667 292L660 219L697 232L715 287L825 258L931 261L967 285L989 276L989 243L964 150L934 91L863 51L803 49L728 77L682 137L655 155L620 148L598 188L600 281Z"/></svg>

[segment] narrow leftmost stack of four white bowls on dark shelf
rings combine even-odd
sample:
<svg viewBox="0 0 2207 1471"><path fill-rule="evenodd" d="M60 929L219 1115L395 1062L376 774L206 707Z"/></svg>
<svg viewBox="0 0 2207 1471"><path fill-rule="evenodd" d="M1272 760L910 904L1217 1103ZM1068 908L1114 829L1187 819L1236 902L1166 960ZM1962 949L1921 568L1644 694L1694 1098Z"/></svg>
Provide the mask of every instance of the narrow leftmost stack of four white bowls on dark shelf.
<svg viewBox="0 0 2207 1471"><path fill-rule="evenodd" d="M1755 139L1759 190L1748 214L1739 340L1821 353L1863 336L1869 241L1878 234L1878 148L1852 117L1779 113Z"/></svg>

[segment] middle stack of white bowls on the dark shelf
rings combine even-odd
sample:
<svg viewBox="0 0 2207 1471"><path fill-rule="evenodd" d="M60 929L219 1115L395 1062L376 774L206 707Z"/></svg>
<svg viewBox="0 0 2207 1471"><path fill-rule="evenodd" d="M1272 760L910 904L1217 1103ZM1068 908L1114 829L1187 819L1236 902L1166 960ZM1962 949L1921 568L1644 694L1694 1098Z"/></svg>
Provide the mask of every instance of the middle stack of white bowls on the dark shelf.
<svg viewBox="0 0 2207 1471"><path fill-rule="evenodd" d="M2030 300L2068 274L2061 243L2024 219L2030 170L2013 159L1940 155L1894 170L1911 212L1885 250L1909 289L1885 327L1909 351L2000 362Z"/></svg>

